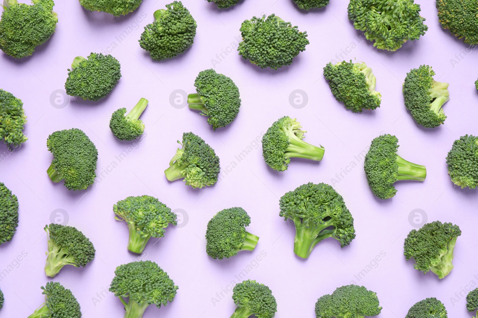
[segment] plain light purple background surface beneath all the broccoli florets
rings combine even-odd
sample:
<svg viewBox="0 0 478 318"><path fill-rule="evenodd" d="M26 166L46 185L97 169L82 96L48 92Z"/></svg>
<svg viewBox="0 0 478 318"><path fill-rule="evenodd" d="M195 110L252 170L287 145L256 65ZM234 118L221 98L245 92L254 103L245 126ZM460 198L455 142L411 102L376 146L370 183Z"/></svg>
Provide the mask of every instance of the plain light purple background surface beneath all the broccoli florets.
<svg viewBox="0 0 478 318"><path fill-rule="evenodd" d="M449 317L471 317L462 299L467 292L462 290L478 283L478 198L476 190L454 187L445 157L455 139L478 133L478 94L474 86L477 53L442 30L434 1L419 2L429 30L420 41L405 43L392 53L359 40L361 32L348 21L345 0L331 0L326 9L310 12L298 10L291 0L245 0L222 11L205 0L185 0L197 21L194 44L184 55L154 62L138 39L143 26L152 22L154 10L168 2L144 0L135 12L114 18L84 10L76 0L57 1L56 32L33 56L19 61L0 52L0 88L22 99L29 137L11 154L0 145L0 153L8 154L0 161L0 181L20 202L16 235L12 242L0 246L0 275L8 272L6 277L0 276L5 294L0 317L27 317L42 304L40 286L49 280L43 271L43 226L51 222L55 209L66 211L68 225L76 226L91 239L97 256L85 268L64 267L53 280L72 290L84 317L123 317L120 300L107 290L115 267L141 256L126 249L127 226L115 221L112 205L126 196L143 194L157 196L173 210L183 209L188 215L182 227L170 226L160 242L154 244L156 240L152 239L146 246L143 259L157 262L179 290L173 303L160 309L150 306L145 318L229 317L235 305L230 289L223 290L231 281L238 282L235 275L243 270L250 270L245 279L256 279L272 289L278 303L277 318L314 318L318 297L350 283L377 292L383 306L378 317L402 318L425 297L441 299ZM216 54L240 41L240 23L264 13L276 13L307 31L310 44L306 51L291 66L278 71L251 65L235 49L223 54L219 62ZM141 22L136 23L136 19ZM120 42L117 37L123 31L128 35ZM121 62L123 75L113 92L100 102L71 98L64 109L54 108L50 95L64 89L66 69L73 58L91 51L104 52L112 43L116 48L108 52ZM352 113L330 93L322 68L344 51L348 52L343 55L345 59L357 58L373 69L377 90L383 96L376 111ZM169 102L170 94L177 89L194 92L197 73L213 67L213 59L219 62L214 65L216 71L236 82L242 99L237 119L216 132L196 111L176 109ZM433 66L435 80L450 83L451 101L444 107L448 119L435 129L418 126L403 105L406 72L424 63ZM302 109L289 103L289 95L296 89L308 95ZM120 142L109 130L111 113L120 107L130 109L141 97L150 101L141 117L146 125L144 137L141 143ZM305 141L325 147L322 162L292 160L283 173L268 168L256 140L260 141L261 134L282 115L296 117L302 123L308 131ZM72 127L87 133L98 148L97 174L104 177L87 191L68 191L63 183L54 184L46 174L52 160L46 138L56 130ZM203 137L220 157L222 178L217 185L193 190L181 181L170 183L164 177L176 140L188 131ZM365 154L370 141L381 133L395 134L401 145L399 154L426 165L428 172L423 183L398 184L397 195L387 201L373 196L363 160L356 157ZM117 156L125 150L128 155L120 161ZM239 160L243 151L245 155ZM349 172L337 178L343 170ZM285 192L307 182L334 186L355 219L357 237L344 248L336 240L327 239L303 260L293 254L293 224L279 217L278 201ZM242 206L250 214L248 231L261 239L252 252L213 260L205 251L207 221L217 211L232 206ZM414 209L422 209L429 222L453 222L462 229L455 249L455 269L443 280L431 272L423 275L413 268L413 260L405 261L403 239L413 229L409 215ZM27 256L17 262L22 253ZM261 253L265 254L261 261L254 261ZM374 261L380 254L386 255ZM363 270L366 275L358 279ZM223 296L218 297L221 292Z"/></svg>

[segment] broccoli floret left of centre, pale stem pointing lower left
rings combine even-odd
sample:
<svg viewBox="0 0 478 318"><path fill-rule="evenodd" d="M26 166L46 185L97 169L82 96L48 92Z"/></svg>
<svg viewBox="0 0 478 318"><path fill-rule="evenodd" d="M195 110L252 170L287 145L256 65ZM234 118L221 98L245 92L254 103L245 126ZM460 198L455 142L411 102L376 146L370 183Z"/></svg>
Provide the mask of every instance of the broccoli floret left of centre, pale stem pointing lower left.
<svg viewBox="0 0 478 318"><path fill-rule="evenodd" d="M220 172L219 157L206 142L194 133L183 133L178 148L164 174L169 181L183 179L186 185L202 188L214 185Z"/></svg>

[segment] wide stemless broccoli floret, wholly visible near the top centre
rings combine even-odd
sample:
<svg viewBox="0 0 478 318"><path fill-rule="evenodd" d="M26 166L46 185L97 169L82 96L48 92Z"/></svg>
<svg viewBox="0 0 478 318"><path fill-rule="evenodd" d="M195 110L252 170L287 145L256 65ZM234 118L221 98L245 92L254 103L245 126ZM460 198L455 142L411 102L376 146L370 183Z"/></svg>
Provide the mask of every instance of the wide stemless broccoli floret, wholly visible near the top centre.
<svg viewBox="0 0 478 318"><path fill-rule="evenodd" d="M305 51L309 44L307 32L300 32L291 22L284 22L275 14L262 18L252 17L245 20L239 29L242 42L239 43L239 55L261 69L291 65L293 58Z"/></svg>

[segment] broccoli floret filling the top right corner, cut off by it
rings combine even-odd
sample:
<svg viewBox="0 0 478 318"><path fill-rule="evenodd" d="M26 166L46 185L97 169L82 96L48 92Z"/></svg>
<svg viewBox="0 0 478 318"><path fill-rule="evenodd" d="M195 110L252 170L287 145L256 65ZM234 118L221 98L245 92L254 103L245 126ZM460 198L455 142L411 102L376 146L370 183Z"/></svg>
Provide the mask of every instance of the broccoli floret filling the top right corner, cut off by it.
<svg viewBox="0 0 478 318"><path fill-rule="evenodd" d="M465 43L478 44L478 6L475 0L436 0L438 20Z"/></svg>

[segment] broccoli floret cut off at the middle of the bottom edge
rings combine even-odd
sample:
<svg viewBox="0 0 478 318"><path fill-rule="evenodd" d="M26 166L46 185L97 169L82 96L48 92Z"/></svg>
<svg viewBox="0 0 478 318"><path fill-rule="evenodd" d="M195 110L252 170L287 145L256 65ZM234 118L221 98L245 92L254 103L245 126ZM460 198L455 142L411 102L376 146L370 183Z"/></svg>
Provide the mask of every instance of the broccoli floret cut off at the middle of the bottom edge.
<svg viewBox="0 0 478 318"><path fill-rule="evenodd" d="M230 318L272 318L277 312L277 302L272 291L255 280L244 280L232 289L232 299L237 308Z"/></svg>

